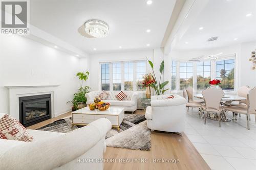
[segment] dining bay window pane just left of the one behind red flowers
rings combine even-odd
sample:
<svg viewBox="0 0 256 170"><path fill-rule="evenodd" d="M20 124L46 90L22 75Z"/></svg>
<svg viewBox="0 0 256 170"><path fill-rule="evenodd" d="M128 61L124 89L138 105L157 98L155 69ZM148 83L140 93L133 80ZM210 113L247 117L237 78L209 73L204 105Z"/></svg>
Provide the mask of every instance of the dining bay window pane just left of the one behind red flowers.
<svg viewBox="0 0 256 170"><path fill-rule="evenodd" d="M197 62L197 89L206 89L210 86L210 61Z"/></svg>

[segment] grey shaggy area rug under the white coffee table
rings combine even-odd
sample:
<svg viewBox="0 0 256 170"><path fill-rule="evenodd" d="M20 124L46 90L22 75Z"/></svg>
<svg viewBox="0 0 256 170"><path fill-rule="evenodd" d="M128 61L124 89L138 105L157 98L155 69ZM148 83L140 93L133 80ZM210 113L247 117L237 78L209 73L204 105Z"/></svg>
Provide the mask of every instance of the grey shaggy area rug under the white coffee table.
<svg viewBox="0 0 256 170"><path fill-rule="evenodd" d="M71 128L71 117L57 120L37 130L68 133L82 126ZM145 115L125 114L120 130L112 128L106 134L108 147L150 151L151 131L147 128Z"/></svg>

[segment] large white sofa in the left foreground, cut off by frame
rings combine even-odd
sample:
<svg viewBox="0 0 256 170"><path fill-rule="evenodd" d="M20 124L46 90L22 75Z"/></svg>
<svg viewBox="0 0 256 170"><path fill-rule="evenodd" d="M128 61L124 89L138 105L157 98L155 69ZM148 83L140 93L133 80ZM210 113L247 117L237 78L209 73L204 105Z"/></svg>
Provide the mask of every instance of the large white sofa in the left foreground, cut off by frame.
<svg viewBox="0 0 256 170"><path fill-rule="evenodd" d="M0 139L0 169L103 169L102 162L85 161L103 158L110 129L110 121L100 118L70 133L28 130L32 142Z"/></svg>

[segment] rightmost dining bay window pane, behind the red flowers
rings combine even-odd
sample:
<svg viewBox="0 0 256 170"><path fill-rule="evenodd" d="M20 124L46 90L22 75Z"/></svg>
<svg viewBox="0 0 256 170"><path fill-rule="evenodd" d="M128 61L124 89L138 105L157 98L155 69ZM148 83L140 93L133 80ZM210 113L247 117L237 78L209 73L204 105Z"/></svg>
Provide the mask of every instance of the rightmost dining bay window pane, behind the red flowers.
<svg viewBox="0 0 256 170"><path fill-rule="evenodd" d="M223 90L234 89L234 59L216 61L216 79Z"/></svg>

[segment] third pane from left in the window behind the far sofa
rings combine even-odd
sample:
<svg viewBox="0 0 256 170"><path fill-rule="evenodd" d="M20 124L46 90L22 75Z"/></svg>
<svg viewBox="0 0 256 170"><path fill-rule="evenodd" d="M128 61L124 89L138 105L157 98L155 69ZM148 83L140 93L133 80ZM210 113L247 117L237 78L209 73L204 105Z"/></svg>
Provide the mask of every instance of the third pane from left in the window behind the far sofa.
<svg viewBox="0 0 256 170"><path fill-rule="evenodd" d="M133 90L133 62L124 63L124 90Z"/></svg>

